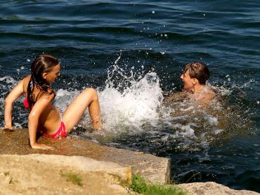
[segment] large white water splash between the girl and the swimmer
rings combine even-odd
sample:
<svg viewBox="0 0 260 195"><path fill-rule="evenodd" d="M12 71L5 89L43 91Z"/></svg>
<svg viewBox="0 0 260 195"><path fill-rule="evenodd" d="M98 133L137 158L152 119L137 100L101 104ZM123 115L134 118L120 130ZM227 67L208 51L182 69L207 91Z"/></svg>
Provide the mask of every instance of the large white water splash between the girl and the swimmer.
<svg viewBox="0 0 260 195"><path fill-rule="evenodd" d="M140 130L143 123L159 118L157 109L163 100L159 77L155 72L149 72L136 80L132 69L127 76L117 65L120 58L121 55L115 60L112 71L108 71L105 89L99 91L103 125L110 130L118 130L115 128L118 125L135 126ZM114 77L121 79L117 86ZM126 82L129 86L123 87ZM124 90L119 90L122 87Z"/></svg>

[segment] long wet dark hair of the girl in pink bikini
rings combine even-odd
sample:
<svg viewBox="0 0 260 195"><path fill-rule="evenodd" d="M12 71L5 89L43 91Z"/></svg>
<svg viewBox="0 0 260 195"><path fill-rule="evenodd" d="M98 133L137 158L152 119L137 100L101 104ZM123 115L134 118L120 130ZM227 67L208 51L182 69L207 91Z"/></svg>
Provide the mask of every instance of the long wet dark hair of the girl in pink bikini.
<svg viewBox="0 0 260 195"><path fill-rule="evenodd" d="M30 108L36 102L37 97L33 97L34 88L38 88L40 93L46 93L51 95L54 93L51 88L50 83L48 83L44 78L43 74L51 72L53 67L59 64L59 61L51 55L41 54L38 55L31 65L31 79L27 86L27 100L29 102Z"/></svg>

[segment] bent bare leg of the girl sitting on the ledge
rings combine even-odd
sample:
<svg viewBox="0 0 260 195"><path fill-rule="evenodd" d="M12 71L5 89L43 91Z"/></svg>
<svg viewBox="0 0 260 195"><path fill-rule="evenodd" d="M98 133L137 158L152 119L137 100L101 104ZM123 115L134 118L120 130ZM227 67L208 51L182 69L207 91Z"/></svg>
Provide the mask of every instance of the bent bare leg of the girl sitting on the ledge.
<svg viewBox="0 0 260 195"><path fill-rule="evenodd" d="M93 88L86 88L70 103L63 113L63 122L65 123L67 133L77 125L87 107L89 107L93 128L96 130L101 128L98 94Z"/></svg>

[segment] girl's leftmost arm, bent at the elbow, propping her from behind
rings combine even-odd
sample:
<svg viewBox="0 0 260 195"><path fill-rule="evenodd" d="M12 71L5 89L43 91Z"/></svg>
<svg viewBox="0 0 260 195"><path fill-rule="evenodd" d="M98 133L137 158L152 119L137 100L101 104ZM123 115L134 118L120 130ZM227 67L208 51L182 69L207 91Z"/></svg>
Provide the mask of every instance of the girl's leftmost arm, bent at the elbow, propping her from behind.
<svg viewBox="0 0 260 195"><path fill-rule="evenodd" d="M25 79L22 79L14 88L11 90L9 95L4 100L4 128L9 130L14 130L12 126L12 108L13 102L18 99L23 93L23 82Z"/></svg>

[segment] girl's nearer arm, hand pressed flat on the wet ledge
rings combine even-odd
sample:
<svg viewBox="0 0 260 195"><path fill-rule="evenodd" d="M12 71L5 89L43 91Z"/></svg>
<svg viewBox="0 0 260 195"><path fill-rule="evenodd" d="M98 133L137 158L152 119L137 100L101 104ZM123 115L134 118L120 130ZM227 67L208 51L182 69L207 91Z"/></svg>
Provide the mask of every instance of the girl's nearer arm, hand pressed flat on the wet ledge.
<svg viewBox="0 0 260 195"><path fill-rule="evenodd" d="M30 137L30 146L33 149L53 149L48 147L45 144L38 144L36 142L37 127L39 123L39 116L44 111L44 109L51 103L51 100L55 97L54 93L51 95L41 95L39 100L35 102L32 110L28 116L28 128L29 128L29 137Z"/></svg>

